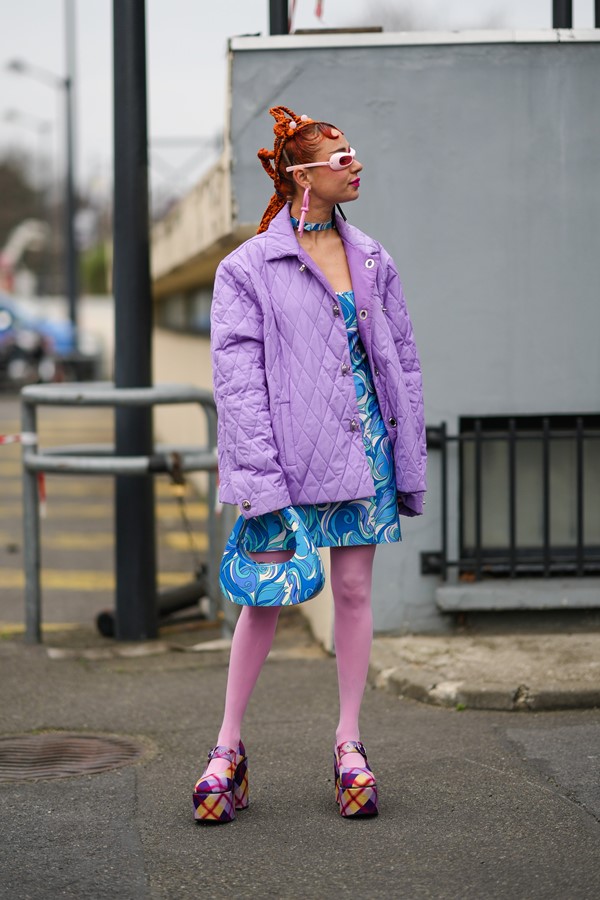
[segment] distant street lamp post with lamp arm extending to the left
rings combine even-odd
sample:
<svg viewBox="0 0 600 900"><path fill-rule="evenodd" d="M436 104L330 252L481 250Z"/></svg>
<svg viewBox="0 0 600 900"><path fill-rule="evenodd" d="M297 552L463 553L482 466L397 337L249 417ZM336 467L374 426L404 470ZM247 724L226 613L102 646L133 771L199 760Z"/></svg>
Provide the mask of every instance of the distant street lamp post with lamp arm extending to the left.
<svg viewBox="0 0 600 900"><path fill-rule="evenodd" d="M30 75L49 87L60 89L65 94L65 244L66 244L66 281L69 318L73 330L77 330L77 297L79 295L79 278L77 264L77 244L75 242L75 160L73 139L73 80L68 75L62 78L54 72L48 72L39 66L33 66L21 59L14 59L7 68L18 75Z"/></svg>

